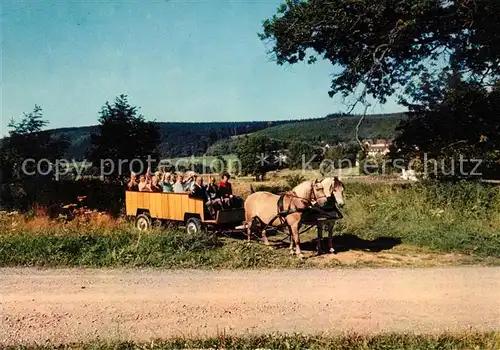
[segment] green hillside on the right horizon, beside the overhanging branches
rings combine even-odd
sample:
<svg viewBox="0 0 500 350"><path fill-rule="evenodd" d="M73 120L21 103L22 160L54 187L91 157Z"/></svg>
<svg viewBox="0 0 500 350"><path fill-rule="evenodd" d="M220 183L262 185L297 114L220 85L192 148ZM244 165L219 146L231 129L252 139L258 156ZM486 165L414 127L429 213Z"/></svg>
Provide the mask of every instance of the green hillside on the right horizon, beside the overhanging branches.
<svg viewBox="0 0 500 350"><path fill-rule="evenodd" d="M254 135L280 140L324 141L335 144L355 140L359 118L357 115L331 115L320 119L276 125L259 130ZM359 130L360 138L393 138L396 134L395 129L403 118L403 113L367 115Z"/></svg>

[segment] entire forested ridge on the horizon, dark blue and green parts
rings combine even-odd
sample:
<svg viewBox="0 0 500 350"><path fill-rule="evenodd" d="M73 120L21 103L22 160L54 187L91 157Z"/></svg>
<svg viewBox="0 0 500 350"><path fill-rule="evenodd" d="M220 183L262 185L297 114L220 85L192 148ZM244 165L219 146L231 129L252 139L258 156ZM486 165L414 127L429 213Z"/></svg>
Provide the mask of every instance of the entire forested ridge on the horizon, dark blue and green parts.
<svg viewBox="0 0 500 350"><path fill-rule="evenodd" d="M393 137L402 118L401 113L366 116L360 128L360 135L362 138ZM329 115L298 121L157 124L162 137L159 145L162 157L186 157L202 155L214 145L216 148L221 144L227 145L227 139L232 136L250 133L282 140L324 141L330 144L352 141L358 120L359 116ZM66 157L81 160L90 147L90 135L97 132L97 127L61 128L49 132L55 136L66 136L71 142Z"/></svg>

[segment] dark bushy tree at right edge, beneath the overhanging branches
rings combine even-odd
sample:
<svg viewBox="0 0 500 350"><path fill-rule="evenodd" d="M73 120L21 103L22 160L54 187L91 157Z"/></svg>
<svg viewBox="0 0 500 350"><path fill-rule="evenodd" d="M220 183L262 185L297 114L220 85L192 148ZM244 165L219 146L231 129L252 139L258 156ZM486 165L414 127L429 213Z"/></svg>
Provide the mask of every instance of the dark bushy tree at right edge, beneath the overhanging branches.
<svg viewBox="0 0 500 350"><path fill-rule="evenodd" d="M422 100L425 103L414 106L411 118L401 125L402 133L393 144L393 158L410 161L420 157L424 165L425 154L428 175L439 177L467 177L480 172L498 176L500 81L492 89L457 81L422 95ZM474 170L477 160L480 165Z"/></svg>

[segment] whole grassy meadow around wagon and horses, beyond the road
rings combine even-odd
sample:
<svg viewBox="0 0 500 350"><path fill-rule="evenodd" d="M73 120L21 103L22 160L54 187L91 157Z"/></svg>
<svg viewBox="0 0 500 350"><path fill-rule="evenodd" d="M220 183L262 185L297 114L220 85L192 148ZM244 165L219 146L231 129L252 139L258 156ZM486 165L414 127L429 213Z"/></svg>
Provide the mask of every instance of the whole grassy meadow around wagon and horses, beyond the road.
<svg viewBox="0 0 500 350"><path fill-rule="evenodd" d="M315 176L311 173L308 176ZM294 172L270 174L263 183L234 180L246 196L256 190L281 192L303 178ZM500 187L482 183L400 183L345 180L344 219L335 228L337 250L408 254L459 254L466 263L500 261ZM0 266L128 266L164 268L317 267L300 261L271 236L273 247L242 233L190 235L182 227L139 232L133 220L80 209L72 220L49 218L44 208L0 214ZM313 256L314 229L301 237ZM342 254L339 254L341 256ZM386 261L369 264L386 265ZM321 262L337 266L337 259ZM367 262L364 262L366 265ZM363 266L364 266L363 265Z"/></svg>

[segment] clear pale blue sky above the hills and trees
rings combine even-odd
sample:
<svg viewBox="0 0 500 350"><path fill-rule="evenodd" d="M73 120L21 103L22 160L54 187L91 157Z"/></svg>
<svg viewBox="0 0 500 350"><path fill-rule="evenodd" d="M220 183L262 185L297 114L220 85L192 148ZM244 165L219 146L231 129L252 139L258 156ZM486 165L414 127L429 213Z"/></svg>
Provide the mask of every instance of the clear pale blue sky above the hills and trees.
<svg viewBox="0 0 500 350"><path fill-rule="evenodd" d="M164 122L345 111L328 96L328 62L278 66L267 55L257 33L280 3L3 0L1 134L35 104L51 128L94 125L121 93ZM389 101L369 113L400 110Z"/></svg>

